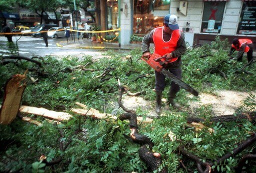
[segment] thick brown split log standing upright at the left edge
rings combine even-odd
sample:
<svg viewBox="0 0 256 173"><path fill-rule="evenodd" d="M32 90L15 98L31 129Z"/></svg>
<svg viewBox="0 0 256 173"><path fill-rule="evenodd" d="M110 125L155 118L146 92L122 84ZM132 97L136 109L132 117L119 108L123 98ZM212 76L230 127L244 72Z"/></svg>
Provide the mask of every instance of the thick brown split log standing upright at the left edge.
<svg viewBox="0 0 256 173"><path fill-rule="evenodd" d="M4 97L0 108L0 123L9 124L16 117L23 91L26 87L21 81L25 75L15 74L8 79L4 86Z"/></svg>

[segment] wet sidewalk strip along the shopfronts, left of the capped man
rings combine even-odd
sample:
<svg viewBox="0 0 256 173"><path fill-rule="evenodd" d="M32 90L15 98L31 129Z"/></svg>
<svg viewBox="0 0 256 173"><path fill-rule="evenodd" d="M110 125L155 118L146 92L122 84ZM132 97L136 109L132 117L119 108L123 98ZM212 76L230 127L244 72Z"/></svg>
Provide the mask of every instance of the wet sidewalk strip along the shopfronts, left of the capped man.
<svg viewBox="0 0 256 173"><path fill-rule="evenodd" d="M96 41L91 41L87 38L79 38L75 37L75 40L71 40L71 38L68 38L68 43L65 40L59 41L57 46L65 47L65 48L88 48L88 49L126 49L131 50L133 48L141 48L141 44L129 44L129 45L121 45L119 47L119 44L116 42L102 42L97 43Z"/></svg>

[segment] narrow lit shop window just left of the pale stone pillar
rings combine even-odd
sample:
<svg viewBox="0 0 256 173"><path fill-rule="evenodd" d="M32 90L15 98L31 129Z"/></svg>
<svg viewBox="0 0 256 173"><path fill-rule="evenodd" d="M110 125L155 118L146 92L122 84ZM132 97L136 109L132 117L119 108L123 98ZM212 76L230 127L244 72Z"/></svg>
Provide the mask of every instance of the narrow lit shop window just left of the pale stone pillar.
<svg viewBox="0 0 256 173"><path fill-rule="evenodd" d="M107 0L107 29L116 29L118 27L118 1Z"/></svg>

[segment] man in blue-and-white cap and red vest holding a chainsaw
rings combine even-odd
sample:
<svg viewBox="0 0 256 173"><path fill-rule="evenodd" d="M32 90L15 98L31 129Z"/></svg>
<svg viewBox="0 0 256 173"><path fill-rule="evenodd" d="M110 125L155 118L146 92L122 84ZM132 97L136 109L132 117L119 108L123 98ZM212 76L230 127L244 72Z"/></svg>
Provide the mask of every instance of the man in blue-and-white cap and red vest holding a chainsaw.
<svg viewBox="0 0 256 173"><path fill-rule="evenodd" d="M177 16L173 14L167 14L163 20L163 26L156 27L147 33L142 40L141 50L144 57L149 58L149 44L154 43L154 52L158 56L165 56L168 63L164 65L166 70L169 70L176 77L181 78L181 55L186 50L186 44L184 40L184 33L179 30L177 24ZM156 93L156 108L155 112L160 114L161 112L161 97L162 91L165 87L165 76L155 71L155 93ZM168 92L167 103L173 107L180 107L180 105L174 102L176 93L180 87L173 81L170 83L170 89Z"/></svg>

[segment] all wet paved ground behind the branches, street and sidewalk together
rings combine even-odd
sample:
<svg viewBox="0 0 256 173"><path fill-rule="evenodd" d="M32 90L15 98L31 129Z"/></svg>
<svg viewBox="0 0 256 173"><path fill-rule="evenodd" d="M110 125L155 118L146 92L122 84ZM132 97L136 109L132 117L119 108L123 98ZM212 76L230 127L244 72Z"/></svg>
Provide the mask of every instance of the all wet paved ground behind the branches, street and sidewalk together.
<svg viewBox="0 0 256 173"><path fill-rule="evenodd" d="M90 39L83 38L81 36L79 40L75 37L74 40L71 37L68 41L65 37L61 38L48 38L48 47L45 47L45 43L42 37L32 37L32 36L13 36L12 41L14 44L17 43L19 49L19 55L32 57L32 56L45 56L45 55L55 55L55 56L67 56L76 55L82 57L84 55L95 56L99 58L101 53L106 49L116 49L120 51L130 50L133 48L140 48L140 44L130 44L125 46L118 46L118 43L104 42L97 43L96 41L91 41ZM6 47L7 38L0 36L0 54L7 55L8 49Z"/></svg>

